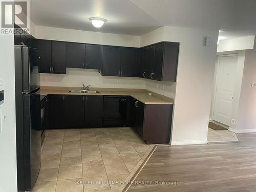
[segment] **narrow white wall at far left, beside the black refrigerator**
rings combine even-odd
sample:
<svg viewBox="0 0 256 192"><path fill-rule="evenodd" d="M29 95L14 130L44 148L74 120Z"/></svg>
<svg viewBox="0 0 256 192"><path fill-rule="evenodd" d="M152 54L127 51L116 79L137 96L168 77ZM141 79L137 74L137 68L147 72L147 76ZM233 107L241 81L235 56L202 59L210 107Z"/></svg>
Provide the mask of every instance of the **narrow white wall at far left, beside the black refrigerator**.
<svg viewBox="0 0 256 192"><path fill-rule="evenodd" d="M14 37L0 35L0 80L5 80L6 127L0 133L0 191L17 191Z"/></svg>

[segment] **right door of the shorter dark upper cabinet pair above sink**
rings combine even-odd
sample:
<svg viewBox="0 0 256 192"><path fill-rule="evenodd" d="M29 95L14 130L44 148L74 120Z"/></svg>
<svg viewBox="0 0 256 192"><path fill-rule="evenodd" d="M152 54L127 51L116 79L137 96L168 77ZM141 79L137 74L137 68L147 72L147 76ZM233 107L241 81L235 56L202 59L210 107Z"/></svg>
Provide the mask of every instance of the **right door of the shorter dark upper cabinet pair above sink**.
<svg viewBox="0 0 256 192"><path fill-rule="evenodd" d="M103 46L86 44L86 68L102 69Z"/></svg>

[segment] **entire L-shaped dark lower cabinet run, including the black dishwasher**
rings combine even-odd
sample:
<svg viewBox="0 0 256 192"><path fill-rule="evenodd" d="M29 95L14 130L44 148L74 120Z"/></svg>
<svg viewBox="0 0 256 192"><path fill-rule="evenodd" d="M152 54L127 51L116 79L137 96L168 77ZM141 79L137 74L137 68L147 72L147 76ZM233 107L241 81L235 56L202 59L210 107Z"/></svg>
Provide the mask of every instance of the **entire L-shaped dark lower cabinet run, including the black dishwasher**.
<svg viewBox="0 0 256 192"><path fill-rule="evenodd" d="M173 105L129 96L48 95L48 129L132 126L147 144L169 143Z"/></svg>

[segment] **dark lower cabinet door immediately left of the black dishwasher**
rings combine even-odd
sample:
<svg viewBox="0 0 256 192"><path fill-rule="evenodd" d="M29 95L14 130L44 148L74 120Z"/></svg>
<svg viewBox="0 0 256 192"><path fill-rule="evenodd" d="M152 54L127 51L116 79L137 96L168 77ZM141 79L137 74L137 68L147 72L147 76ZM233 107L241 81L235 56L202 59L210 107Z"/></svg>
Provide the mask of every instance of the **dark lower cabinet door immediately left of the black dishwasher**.
<svg viewBox="0 0 256 192"><path fill-rule="evenodd" d="M92 95L85 96L85 127L102 127L103 118L103 96Z"/></svg>

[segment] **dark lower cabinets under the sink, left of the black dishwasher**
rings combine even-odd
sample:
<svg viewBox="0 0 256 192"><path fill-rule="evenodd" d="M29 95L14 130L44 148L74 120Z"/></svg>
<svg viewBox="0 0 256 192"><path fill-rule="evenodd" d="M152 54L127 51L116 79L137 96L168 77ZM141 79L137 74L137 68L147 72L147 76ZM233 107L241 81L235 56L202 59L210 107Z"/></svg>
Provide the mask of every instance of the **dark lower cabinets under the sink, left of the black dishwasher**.
<svg viewBox="0 0 256 192"><path fill-rule="evenodd" d="M49 129L102 127L103 96L49 95Z"/></svg>

